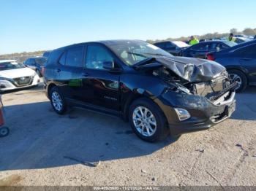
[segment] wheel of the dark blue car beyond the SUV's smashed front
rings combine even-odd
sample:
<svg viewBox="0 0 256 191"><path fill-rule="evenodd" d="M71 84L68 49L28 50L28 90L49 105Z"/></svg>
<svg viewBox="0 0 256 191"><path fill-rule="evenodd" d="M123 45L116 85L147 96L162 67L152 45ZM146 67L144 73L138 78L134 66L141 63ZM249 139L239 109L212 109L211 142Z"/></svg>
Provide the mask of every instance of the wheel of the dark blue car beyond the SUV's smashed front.
<svg viewBox="0 0 256 191"><path fill-rule="evenodd" d="M244 91L247 86L246 75L242 71L236 69L231 69L227 72L230 75L230 78L238 83L238 88L236 89L236 92L241 93L242 91Z"/></svg>

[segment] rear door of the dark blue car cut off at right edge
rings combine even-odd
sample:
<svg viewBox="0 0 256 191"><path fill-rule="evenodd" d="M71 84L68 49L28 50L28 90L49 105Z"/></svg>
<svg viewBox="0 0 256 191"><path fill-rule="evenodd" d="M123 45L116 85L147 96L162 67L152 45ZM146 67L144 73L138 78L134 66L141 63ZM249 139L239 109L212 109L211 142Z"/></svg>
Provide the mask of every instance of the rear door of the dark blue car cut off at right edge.
<svg viewBox="0 0 256 191"><path fill-rule="evenodd" d="M248 71L249 83L256 85L256 44L249 45L234 52L239 62Z"/></svg>

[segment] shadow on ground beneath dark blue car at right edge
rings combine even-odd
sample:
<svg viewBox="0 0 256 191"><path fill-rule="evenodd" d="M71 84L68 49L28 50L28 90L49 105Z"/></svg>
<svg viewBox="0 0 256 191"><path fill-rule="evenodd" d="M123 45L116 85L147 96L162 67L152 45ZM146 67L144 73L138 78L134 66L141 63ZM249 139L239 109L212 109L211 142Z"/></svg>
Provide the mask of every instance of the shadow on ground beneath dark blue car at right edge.
<svg viewBox="0 0 256 191"><path fill-rule="evenodd" d="M248 87L243 93L236 93L236 111L230 117L234 120L256 120L256 87Z"/></svg>

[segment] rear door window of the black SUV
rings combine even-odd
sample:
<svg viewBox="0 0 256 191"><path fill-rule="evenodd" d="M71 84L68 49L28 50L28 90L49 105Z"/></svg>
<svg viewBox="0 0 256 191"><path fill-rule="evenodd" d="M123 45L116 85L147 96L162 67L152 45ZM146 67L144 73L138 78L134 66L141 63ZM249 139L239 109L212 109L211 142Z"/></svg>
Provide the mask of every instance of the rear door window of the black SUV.
<svg viewBox="0 0 256 191"><path fill-rule="evenodd" d="M65 65L73 67L83 66L83 46L71 47L67 50Z"/></svg>

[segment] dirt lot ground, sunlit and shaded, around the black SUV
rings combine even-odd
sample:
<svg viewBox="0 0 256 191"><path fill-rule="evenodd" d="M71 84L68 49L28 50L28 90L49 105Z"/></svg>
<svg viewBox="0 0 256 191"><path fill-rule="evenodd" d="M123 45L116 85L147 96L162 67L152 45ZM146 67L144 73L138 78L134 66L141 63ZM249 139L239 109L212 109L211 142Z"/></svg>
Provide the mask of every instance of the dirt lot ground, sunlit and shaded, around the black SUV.
<svg viewBox="0 0 256 191"><path fill-rule="evenodd" d="M59 116L42 87L6 93L0 185L256 185L255 95L238 94L233 117L210 130L149 144L117 117Z"/></svg>

